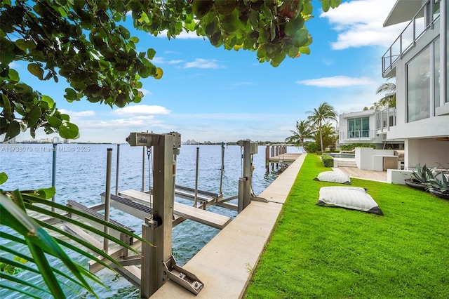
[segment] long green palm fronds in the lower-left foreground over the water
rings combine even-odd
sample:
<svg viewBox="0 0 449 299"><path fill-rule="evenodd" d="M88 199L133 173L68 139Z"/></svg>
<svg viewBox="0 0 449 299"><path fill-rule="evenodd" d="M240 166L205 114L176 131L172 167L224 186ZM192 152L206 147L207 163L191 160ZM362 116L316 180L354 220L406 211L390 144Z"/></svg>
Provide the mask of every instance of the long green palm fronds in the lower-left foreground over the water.
<svg viewBox="0 0 449 299"><path fill-rule="evenodd" d="M3 184L7 178L6 173L0 173L0 185ZM53 295L54 298L66 298L66 294L63 289L66 291L67 289L73 290L73 286L69 285L72 283L81 286L81 288L84 288L88 292L95 295L89 281L93 281L102 286L105 285L102 284L100 279L95 276L93 272L90 272L69 258L67 253L65 253L64 248L69 248L72 251L79 253L80 256L82 255L91 260L95 260L110 270L113 270L112 267L109 266L111 264L114 264L114 266L117 267L121 267L121 265L114 260L114 258L111 258L107 255L107 253L96 248L92 244L75 237L72 234L68 234L54 225L48 225L46 222L37 219L36 216L30 216L28 211L37 212L33 213L33 215L37 215L39 213L41 215L70 222L83 228L84 230L88 230L93 234L98 234L101 237L105 237L120 246L128 248L130 251L134 251L135 253L138 252L123 241L116 239L109 234L105 234L105 232L97 230L95 227L83 224L82 222L69 218L65 215L61 215L61 213L56 213L55 211L61 210L67 213L72 213L72 215L78 215L81 218L110 227L112 230L122 232L129 237L133 237L147 244L149 243L138 235L130 233L122 227L113 225L104 220L100 220L86 213L76 211L73 208L69 208L62 204L56 204L53 201L49 201L48 199L51 199L54 194L54 187L22 192L19 190L8 192L0 189L0 227L11 227L11 229L18 233L18 235L9 234L2 229L0 230L0 239L21 244L20 246L27 246L30 253L30 255L26 255L21 253L20 250L15 249L15 246L0 245L0 251L11 253L10 256L14 255L16 257L8 258L5 255L0 257L1 268L4 269L4 271L0 271L0 288L10 289L12 291L22 293L23 295L27 295L29 298L39 298L35 294L36 292L39 293L39 291L48 293L48 295ZM42 208L42 206L45 208ZM66 239L69 238L72 242L64 241L62 237L52 237L49 232L52 232L52 235L56 236L63 235ZM100 258L94 254L100 256ZM65 265L67 270L69 270L69 274L65 274L65 272L51 267L46 255L52 255L60 260L61 265ZM106 263L103 260L106 260ZM26 261L26 263L21 263L21 261ZM16 277L13 273L17 271L13 270L30 271L40 274L47 288L41 288L36 286L36 284L30 284L29 282ZM62 282L60 280L61 277L64 277L66 281L70 281L70 283L67 284ZM10 281L12 284L4 284L5 281ZM23 288L25 286L31 287L34 291L24 291ZM97 295L95 295L95 297L97 297Z"/></svg>

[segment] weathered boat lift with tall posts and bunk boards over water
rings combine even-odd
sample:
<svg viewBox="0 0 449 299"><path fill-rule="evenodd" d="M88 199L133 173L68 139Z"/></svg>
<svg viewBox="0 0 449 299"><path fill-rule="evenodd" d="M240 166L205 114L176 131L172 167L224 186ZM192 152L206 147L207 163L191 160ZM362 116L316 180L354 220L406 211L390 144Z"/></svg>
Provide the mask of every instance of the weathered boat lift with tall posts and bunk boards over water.
<svg viewBox="0 0 449 299"><path fill-rule="evenodd" d="M239 179L239 194L235 197L223 199L222 194L198 192L196 188L180 187L175 184L176 157L180 153L181 146L179 133L130 133L126 141L131 146L152 148L154 154L152 189L149 192L137 190L119 191L116 189L116 194L111 194L112 149L108 149L107 182L106 192L102 194L103 204L86 207L75 201L69 201L67 205L110 222L114 222L114 220L109 220L110 206L134 215L144 221L142 224L142 239L153 244L153 246L135 241L132 238L127 239L124 234L108 231L107 233L120 237L133 248L142 248L141 255L128 255L126 248L119 246L109 249L107 240L101 243L86 232L83 232L79 227L68 223L63 223L63 225L72 234L86 239L97 248L103 249L112 258L115 258L123 267L114 267L114 265L112 267L133 285L140 288L141 298L149 298L169 279L188 291L198 294L204 287L203 282L195 274L176 265L176 260L172 255L172 228L185 219L191 219L222 229L231 219L224 215L206 211L206 206L223 206L240 213L250 204L251 200L264 200L255 197L251 191L251 179L254 169L251 161L253 154L257 154L257 143L250 142L250 140L239 140L237 142L243 149L243 173ZM187 206L177 203L175 202L175 194L187 199L194 197L194 199L198 199L200 204ZM238 199L237 205L228 203L229 200L236 198ZM102 209L105 210L104 216L98 213ZM120 225L119 223L116 224ZM121 226L123 227L123 225ZM138 265L140 265L140 268L137 267ZM99 263L95 261L89 262L89 270L92 272L97 272L101 269L102 265Z"/></svg>

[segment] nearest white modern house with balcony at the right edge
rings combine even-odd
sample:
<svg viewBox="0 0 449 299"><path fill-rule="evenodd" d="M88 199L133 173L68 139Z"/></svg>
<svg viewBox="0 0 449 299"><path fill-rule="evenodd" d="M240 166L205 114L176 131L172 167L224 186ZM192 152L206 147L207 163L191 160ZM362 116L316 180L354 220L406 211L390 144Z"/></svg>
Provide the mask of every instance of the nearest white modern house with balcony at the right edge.
<svg viewBox="0 0 449 299"><path fill-rule="evenodd" d="M410 21L382 57L382 76L396 77L396 123L405 166L449 168L449 1L397 0L384 27ZM340 123L341 124L341 123Z"/></svg>

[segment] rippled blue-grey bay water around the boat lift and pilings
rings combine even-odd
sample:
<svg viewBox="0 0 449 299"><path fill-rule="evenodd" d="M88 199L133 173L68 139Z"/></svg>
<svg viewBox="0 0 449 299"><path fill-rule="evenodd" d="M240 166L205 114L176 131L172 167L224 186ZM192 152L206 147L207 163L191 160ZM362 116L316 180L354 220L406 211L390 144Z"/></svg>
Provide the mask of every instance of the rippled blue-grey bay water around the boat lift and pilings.
<svg viewBox="0 0 449 299"><path fill-rule="evenodd" d="M116 145L58 145L56 152L56 201L65 204L71 199L86 206L100 204L100 194L105 192L107 148L113 149L112 187L115 192L116 182ZM195 187L196 147L199 147L199 190L218 193L220 190L221 146L220 145L182 145L177 157L177 185ZM1 185L3 190L26 190L51 187L53 145L0 145L0 172L8 174L8 181ZM288 152L297 152L289 147ZM253 157L253 192L260 194L275 178L276 174L265 173L265 147L260 146L259 154ZM120 145L119 190L142 189L142 147ZM241 147L225 148L225 172L222 192L224 197L237 194L238 182L242 173ZM145 154L145 190L149 187L149 161ZM176 199L192 204L192 201ZM235 217L236 212L212 206L210 211ZM123 225L132 227L140 234L142 220L133 218L112 208L110 217ZM5 230L5 227L1 227ZM177 263L184 265L218 230L186 220L173 228L173 255ZM1 244L5 240L0 239ZM6 244L13 246L12 244ZM27 253L24 248L24 253ZM28 253L27 253L28 254ZM83 265L87 260L80 260L76 253L70 256ZM39 281L40 277L27 272L19 274L30 282ZM126 279L116 276L109 270L98 272L98 276L109 289L96 286L100 298L140 298L140 291L130 285ZM45 295L43 295L45 297ZM73 295L72 298L91 298L86 293ZM0 290L0 298L20 298L17 293Z"/></svg>

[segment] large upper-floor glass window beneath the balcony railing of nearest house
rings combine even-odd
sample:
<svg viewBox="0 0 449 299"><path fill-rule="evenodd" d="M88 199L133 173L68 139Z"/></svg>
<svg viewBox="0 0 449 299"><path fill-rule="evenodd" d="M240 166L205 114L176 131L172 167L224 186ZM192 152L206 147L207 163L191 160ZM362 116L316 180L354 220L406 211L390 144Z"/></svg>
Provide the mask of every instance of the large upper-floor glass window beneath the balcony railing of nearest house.
<svg viewBox="0 0 449 299"><path fill-rule="evenodd" d="M407 67L407 119L430 117L430 48L427 47Z"/></svg>

